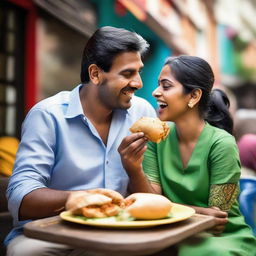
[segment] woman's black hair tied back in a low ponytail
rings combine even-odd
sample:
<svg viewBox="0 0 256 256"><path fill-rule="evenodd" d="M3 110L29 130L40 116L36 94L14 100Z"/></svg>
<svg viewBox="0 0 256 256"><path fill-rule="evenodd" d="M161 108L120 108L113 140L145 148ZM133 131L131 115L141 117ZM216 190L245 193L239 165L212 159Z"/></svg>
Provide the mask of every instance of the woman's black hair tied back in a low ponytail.
<svg viewBox="0 0 256 256"><path fill-rule="evenodd" d="M211 125L233 132L233 120L229 113L230 102L220 89L214 89L214 74L207 61L196 56L180 55L170 57L164 65L171 68L175 79L183 85L185 94L202 90L198 104L199 113Z"/></svg>

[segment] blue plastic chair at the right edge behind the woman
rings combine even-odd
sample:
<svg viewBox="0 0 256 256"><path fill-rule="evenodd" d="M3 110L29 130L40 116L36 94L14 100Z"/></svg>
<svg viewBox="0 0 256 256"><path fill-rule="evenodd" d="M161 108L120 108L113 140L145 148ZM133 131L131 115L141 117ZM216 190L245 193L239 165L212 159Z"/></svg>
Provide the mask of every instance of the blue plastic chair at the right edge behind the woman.
<svg viewBox="0 0 256 256"><path fill-rule="evenodd" d="M240 190L240 210L256 235L256 178L241 178Z"/></svg>

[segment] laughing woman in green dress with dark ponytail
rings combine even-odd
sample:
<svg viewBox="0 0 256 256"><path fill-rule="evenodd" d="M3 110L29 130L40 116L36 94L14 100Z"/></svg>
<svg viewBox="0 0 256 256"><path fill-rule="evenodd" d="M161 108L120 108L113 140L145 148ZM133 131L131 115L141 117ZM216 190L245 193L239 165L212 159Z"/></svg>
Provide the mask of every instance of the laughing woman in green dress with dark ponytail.
<svg viewBox="0 0 256 256"><path fill-rule="evenodd" d="M198 243L182 243L179 255L255 255L255 238L237 202L240 162L229 101L221 90L212 91L213 83L203 59L167 59L153 96L159 118L172 122L169 136L147 146L126 141L119 152L133 192L162 193L215 217L212 233Z"/></svg>

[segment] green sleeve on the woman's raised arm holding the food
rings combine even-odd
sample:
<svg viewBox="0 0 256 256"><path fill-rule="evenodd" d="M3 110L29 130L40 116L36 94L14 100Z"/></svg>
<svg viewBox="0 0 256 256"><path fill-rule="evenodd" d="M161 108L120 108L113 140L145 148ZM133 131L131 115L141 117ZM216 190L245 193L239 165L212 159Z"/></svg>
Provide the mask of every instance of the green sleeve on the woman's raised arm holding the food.
<svg viewBox="0 0 256 256"><path fill-rule="evenodd" d="M157 161L157 144L148 142L148 148L144 154L143 170L150 182L160 184L159 168Z"/></svg>

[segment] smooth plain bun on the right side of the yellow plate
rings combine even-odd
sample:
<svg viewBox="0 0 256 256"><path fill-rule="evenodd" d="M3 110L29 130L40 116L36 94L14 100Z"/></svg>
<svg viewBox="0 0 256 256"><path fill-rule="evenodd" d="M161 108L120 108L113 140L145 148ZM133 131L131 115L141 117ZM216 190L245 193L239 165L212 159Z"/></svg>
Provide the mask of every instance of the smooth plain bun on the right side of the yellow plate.
<svg viewBox="0 0 256 256"><path fill-rule="evenodd" d="M168 216L172 203L158 194L134 193L125 198L125 210L135 219L154 220Z"/></svg>

